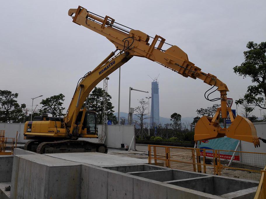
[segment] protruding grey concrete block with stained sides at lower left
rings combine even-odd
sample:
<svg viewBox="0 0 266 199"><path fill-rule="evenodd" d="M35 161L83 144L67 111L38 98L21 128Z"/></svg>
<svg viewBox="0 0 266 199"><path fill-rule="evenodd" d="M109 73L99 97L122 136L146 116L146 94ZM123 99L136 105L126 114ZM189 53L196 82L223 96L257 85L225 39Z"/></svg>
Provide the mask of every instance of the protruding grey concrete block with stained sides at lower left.
<svg viewBox="0 0 266 199"><path fill-rule="evenodd" d="M14 156L12 199L80 198L81 165L45 155Z"/></svg>

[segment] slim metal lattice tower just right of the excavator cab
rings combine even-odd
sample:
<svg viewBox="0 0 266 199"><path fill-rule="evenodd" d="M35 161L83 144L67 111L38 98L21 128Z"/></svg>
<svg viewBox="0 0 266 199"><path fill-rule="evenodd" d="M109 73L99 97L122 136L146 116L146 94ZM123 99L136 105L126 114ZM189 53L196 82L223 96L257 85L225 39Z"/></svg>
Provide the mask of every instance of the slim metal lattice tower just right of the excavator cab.
<svg viewBox="0 0 266 199"><path fill-rule="evenodd" d="M102 134L99 137L99 142L105 143L106 138L106 121L107 121L107 114L106 114L106 97L107 97L107 83L109 78L106 77L103 80L103 101L102 101Z"/></svg>

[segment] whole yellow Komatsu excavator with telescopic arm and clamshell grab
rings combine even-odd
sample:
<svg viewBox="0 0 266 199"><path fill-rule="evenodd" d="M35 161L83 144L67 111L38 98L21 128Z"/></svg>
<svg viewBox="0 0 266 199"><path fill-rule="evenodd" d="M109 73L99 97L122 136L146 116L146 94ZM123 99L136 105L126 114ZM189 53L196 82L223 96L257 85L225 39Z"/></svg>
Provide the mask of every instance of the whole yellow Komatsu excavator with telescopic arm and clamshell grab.
<svg viewBox="0 0 266 199"><path fill-rule="evenodd" d="M150 37L139 30L115 22L109 16L102 17L81 6L77 9L69 9L68 15L72 17L74 23L105 36L115 45L116 50L111 52L93 71L89 71L80 79L64 118L43 115L34 117L34 121L25 123L24 139L30 140L25 144L26 150L40 154L62 152L107 153L107 147L102 143L78 140L78 138L98 138L95 112L86 110L86 105L84 109L81 108L84 102L87 103L86 99L89 93L101 80L134 56L155 61L186 78L199 78L204 83L211 85L211 89L217 87L216 90L220 92L219 98L209 99L209 95L214 91L207 96L206 92L205 98L209 101L220 100L221 107L217 109L213 118L203 116L199 119L195 126L195 141L227 136L252 142L255 147L260 145L252 122L239 115L235 117L231 108L227 107L226 95L229 90L226 84L216 76L202 72L201 68L188 60L187 54L178 46L166 43L161 36ZM151 43L149 43L150 38L153 38ZM163 50L164 44L171 47ZM232 122L228 128L225 122L227 112ZM224 123L223 127L219 125L220 117Z"/></svg>

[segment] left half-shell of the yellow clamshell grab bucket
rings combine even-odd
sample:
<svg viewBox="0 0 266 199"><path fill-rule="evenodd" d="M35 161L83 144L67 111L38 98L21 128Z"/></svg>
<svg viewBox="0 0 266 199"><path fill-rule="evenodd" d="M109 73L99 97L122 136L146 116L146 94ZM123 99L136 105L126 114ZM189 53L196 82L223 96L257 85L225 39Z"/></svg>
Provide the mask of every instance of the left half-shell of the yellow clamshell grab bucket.
<svg viewBox="0 0 266 199"><path fill-rule="evenodd" d="M211 123L212 117L203 116L199 119L195 126L194 140L210 140L225 136L224 133L219 133L221 127L218 122Z"/></svg>

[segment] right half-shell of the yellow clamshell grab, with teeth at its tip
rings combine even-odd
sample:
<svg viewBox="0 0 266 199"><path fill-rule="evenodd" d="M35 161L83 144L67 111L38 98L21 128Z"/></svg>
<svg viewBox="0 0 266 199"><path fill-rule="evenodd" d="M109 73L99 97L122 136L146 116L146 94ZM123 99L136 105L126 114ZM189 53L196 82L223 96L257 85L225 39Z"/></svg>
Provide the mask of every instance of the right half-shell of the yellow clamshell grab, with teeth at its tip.
<svg viewBox="0 0 266 199"><path fill-rule="evenodd" d="M240 115L238 115L227 128L226 136L228 138L252 142L255 147L260 146L254 124L252 124L249 119L241 117Z"/></svg>

